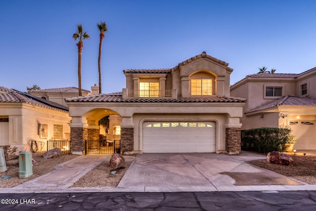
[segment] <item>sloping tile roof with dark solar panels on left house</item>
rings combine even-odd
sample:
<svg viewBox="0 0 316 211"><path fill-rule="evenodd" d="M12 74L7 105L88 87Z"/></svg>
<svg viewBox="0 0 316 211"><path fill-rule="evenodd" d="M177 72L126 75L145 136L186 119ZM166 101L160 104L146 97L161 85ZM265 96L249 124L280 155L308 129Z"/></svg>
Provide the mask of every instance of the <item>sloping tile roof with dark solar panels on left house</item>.
<svg viewBox="0 0 316 211"><path fill-rule="evenodd" d="M0 86L0 102L30 103L33 105L68 112L68 108L58 103L44 100L31 94Z"/></svg>

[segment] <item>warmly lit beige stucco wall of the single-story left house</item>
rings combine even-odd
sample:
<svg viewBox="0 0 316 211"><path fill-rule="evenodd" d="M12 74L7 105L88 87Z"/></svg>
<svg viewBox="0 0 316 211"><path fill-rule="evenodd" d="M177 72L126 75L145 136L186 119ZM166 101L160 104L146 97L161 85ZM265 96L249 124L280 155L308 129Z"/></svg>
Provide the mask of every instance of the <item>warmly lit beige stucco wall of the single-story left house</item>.
<svg viewBox="0 0 316 211"><path fill-rule="evenodd" d="M20 151L29 151L31 140L34 139L46 150L46 141L53 137L53 125L63 125L63 138L70 133L68 125L71 118L67 112L43 108L28 103L7 103L6 108L0 105L0 115L9 118L9 140L6 144L16 146ZM38 134L38 124L48 125L47 138ZM42 142L42 143L41 143Z"/></svg>

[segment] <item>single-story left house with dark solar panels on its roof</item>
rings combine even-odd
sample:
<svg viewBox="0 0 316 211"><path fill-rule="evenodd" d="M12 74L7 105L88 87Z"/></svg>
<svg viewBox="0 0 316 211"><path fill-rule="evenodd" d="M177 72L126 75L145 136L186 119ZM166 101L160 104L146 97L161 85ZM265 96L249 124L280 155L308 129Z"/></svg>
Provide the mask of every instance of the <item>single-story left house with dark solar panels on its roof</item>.
<svg viewBox="0 0 316 211"><path fill-rule="evenodd" d="M29 151L36 140L45 151L47 140L70 137L70 121L67 107L0 86L0 145Z"/></svg>

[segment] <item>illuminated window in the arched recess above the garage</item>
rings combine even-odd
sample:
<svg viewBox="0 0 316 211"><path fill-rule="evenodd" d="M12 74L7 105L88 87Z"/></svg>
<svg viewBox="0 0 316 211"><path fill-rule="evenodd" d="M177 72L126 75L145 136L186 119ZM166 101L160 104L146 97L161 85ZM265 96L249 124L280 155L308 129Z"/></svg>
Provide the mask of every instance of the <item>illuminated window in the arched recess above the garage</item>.
<svg viewBox="0 0 316 211"><path fill-rule="evenodd" d="M191 79L192 95L212 95L212 79Z"/></svg>

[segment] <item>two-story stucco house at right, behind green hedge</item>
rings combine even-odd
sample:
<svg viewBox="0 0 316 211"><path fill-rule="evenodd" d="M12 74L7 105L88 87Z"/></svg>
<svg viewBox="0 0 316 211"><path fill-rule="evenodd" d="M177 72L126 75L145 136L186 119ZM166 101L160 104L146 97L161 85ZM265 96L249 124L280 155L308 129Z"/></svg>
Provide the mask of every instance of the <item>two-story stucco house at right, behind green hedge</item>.
<svg viewBox="0 0 316 211"><path fill-rule="evenodd" d="M231 86L246 98L242 128L290 127L295 149L316 150L316 68L300 74L261 73Z"/></svg>

